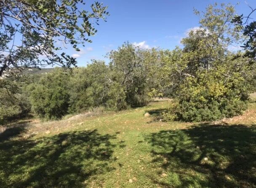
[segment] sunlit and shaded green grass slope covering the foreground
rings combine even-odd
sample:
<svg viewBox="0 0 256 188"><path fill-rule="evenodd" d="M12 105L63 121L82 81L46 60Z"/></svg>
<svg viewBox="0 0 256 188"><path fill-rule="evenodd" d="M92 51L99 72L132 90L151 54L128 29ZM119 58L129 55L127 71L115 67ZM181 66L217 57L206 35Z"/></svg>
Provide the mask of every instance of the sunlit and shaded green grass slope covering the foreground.
<svg viewBox="0 0 256 188"><path fill-rule="evenodd" d="M167 106L4 127L0 187L256 187L255 102L211 124L161 122Z"/></svg>

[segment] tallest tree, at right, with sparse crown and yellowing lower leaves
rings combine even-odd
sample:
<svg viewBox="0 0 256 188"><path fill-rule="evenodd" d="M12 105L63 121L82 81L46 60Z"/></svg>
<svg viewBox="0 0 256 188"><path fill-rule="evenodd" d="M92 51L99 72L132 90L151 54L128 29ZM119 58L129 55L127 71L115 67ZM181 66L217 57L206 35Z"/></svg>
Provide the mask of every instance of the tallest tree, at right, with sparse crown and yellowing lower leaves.
<svg viewBox="0 0 256 188"><path fill-rule="evenodd" d="M181 40L184 48L176 62L181 67L181 82L173 105L165 113L169 120L213 121L242 114L247 108L248 59L235 59L237 54L228 49L240 39L231 23L235 9L232 5L209 5L202 15L200 28Z"/></svg>

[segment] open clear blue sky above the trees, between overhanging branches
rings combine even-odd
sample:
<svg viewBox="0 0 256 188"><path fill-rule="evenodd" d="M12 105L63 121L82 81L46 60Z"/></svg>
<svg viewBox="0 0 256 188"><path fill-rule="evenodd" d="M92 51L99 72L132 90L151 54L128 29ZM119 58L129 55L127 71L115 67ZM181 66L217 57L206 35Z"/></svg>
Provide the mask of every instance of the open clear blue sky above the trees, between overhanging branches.
<svg viewBox="0 0 256 188"><path fill-rule="evenodd" d="M90 1L87 5L90 5ZM213 3L232 3L239 14L250 12L246 3L256 8L256 0L102 0L108 5L107 22L96 26L98 32L92 43L80 53L68 48L66 53L77 57L78 66L86 66L91 59L104 58L107 52L129 41L142 48L158 46L174 49L189 28L199 26L193 8L204 11ZM253 15L255 16L255 15Z"/></svg>

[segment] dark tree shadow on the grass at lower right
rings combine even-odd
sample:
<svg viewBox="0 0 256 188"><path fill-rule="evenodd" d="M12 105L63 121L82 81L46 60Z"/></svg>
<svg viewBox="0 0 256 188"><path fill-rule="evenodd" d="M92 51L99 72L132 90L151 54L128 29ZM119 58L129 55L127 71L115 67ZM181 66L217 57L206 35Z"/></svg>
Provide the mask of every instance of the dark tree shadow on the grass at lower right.
<svg viewBox="0 0 256 188"><path fill-rule="evenodd" d="M256 126L201 124L147 136L163 187L256 187ZM161 173L161 172L159 172Z"/></svg>

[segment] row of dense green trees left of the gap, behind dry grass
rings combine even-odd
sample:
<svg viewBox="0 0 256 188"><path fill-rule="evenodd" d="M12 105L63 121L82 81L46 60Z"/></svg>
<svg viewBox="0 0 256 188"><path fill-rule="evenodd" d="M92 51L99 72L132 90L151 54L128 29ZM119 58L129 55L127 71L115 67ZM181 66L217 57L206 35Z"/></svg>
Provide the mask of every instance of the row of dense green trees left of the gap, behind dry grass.
<svg viewBox="0 0 256 188"><path fill-rule="evenodd" d="M130 45L124 49L135 50L135 47ZM145 69L136 63L130 67L132 61L126 61L121 53L112 55L118 56L118 63L122 64L118 64L117 59L110 65L94 60L87 67L74 68L66 73L63 69L56 69L46 74L38 83L28 87L32 110L40 118L59 119L67 113L80 113L100 106L118 111L147 104ZM128 67L131 74L123 74Z"/></svg>

